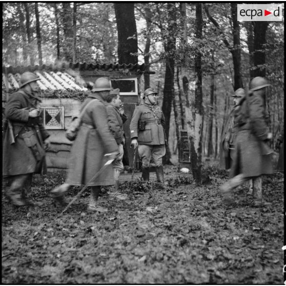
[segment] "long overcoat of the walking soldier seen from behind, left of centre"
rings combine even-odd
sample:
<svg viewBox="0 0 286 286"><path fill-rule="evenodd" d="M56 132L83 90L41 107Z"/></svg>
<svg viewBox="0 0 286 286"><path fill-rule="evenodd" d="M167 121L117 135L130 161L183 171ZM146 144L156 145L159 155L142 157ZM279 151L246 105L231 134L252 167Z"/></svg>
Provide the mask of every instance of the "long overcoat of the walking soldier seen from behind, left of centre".
<svg viewBox="0 0 286 286"><path fill-rule="evenodd" d="M94 98L97 100L93 100ZM91 93L84 102L82 109L91 100L93 102L81 117L83 125L79 127L71 149L66 182L73 186L114 185L111 165L93 179L107 161L104 155L117 152L118 146L108 127L107 111L103 99L97 93ZM87 125L92 128L87 127Z"/></svg>

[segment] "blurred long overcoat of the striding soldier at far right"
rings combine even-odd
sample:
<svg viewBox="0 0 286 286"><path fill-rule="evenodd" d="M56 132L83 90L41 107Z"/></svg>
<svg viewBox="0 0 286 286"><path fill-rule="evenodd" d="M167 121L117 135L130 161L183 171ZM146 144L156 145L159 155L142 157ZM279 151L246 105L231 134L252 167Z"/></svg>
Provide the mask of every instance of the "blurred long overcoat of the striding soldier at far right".
<svg viewBox="0 0 286 286"><path fill-rule="evenodd" d="M244 177L272 174L272 150L265 142L269 127L265 120L264 100L260 95L252 95L249 100L244 97L240 105L230 177L238 174Z"/></svg>

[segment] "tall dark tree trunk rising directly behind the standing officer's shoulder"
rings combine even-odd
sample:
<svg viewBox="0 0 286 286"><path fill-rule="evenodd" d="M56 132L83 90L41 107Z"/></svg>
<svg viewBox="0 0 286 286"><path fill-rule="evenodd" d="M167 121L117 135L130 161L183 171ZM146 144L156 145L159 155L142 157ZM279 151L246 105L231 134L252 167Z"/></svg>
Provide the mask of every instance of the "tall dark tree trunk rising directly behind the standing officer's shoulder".
<svg viewBox="0 0 286 286"><path fill-rule="evenodd" d="M176 49L176 37L175 37L175 27L176 27L176 7L174 3L167 4L168 10L168 38L164 44L166 53L166 72L165 72L165 83L164 83L164 98L162 103L162 110L165 116L166 125L166 137L167 141L169 139L169 129L170 129L170 116L172 109L172 99L174 98L174 76L175 76L175 49ZM169 149L169 148L167 148ZM164 156L164 164L170 164L170 151L166 150L166 155Z"/></svg>

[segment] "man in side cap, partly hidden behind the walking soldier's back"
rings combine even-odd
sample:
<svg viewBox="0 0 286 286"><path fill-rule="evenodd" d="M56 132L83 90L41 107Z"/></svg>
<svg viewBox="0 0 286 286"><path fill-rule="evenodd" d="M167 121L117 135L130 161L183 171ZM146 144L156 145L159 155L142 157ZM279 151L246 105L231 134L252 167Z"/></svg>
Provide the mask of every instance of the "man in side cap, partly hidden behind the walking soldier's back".
<svg viewBox="0 0 286 286"><path fill-rule="evenodd" d="M123 131L123 124L127 120L122 108L120 100L119 89L110 91L110 95L106 99L107 101L107 114L108 114L108 125L111 133L113 134L115 141L118 145L119 155L113 161L113 173L115 179L115 191L118 191L118 180L120 173L124 170L122 164L122 158L124 155L123 147L125 145L125 136Z"/></svg>

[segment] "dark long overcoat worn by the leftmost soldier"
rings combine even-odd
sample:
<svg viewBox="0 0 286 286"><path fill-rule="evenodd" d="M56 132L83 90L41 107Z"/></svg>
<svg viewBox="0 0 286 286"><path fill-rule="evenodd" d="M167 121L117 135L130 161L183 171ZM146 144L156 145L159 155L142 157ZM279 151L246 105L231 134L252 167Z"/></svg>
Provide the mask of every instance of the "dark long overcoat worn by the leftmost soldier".
<svg viewBox="0 0 286 286"><path fill-rule="evenodd" d="M11 134L7 128L4 132L3 140L3 175L13 176L28 173L40 173L45 160L45 150L43 141L50 135L43 126L41 116L29 117L29 109L37 108L40 99L27 91L20 90L10 95L5 115L10 120L15 143L11 144ZM32 150L26 145L23 134L32 132L36 140L38 159ZM24 135L25 136L25 135Z"/></svg>

